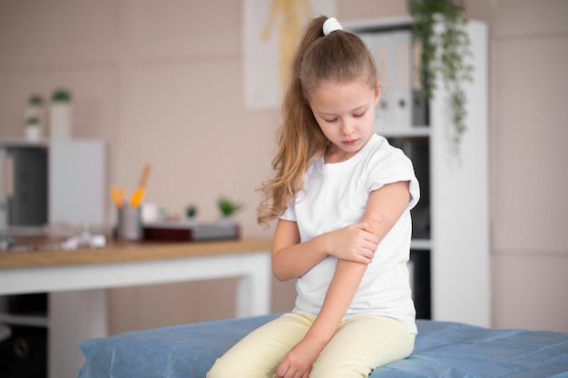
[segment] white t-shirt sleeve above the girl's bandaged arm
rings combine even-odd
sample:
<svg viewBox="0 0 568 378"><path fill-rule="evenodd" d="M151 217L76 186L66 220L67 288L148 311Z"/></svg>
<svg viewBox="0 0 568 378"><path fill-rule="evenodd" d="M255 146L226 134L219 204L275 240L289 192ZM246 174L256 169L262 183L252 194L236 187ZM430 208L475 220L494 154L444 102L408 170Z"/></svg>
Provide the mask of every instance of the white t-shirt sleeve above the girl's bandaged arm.
<svg viewBox="0 0 568 378"><path fill-rule="evenodd" d="M381 147L369 160L367 189L370 192L386 184L408 181L411 195L407 209L412 209L420 199L420 185L416 179L410 159L398 148L387 144Z"/></svg>

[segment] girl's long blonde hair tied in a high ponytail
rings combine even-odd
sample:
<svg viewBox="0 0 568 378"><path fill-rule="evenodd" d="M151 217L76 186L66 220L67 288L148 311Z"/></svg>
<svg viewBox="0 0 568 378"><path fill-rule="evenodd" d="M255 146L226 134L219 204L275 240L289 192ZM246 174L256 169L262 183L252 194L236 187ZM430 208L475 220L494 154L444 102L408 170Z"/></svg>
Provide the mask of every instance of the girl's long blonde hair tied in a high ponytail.
<svg viewBox="0 0 568 378"><path fill-rule="evenodd" d="M324 36L327 19L322 15L309 22L292 56L277 135L279 149L272 160L274 175L260 187L259 224L278 218L288 204L294 204L304 190L308 165L326 152L328 139L312 114L309 92L328 80L362 79L377 87L377 67L367 45L343 30Z"/></svg>

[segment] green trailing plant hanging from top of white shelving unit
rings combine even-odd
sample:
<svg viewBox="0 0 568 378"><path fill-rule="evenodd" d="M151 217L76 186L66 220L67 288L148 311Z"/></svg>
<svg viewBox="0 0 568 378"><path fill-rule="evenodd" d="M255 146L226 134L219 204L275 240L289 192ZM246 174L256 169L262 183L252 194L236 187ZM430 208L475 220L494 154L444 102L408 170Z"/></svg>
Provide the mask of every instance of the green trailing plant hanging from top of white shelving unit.
<svg viewBox="0 0 568 378"><path fill-rule="evenodd" d="M473 65L466 61L473 54L465 32L463 0L408 0L415 43L420 44L419 78L427 99L436 90L441 75L450 96L455 153L466 130L466 96L463 83L472 81ZM440 27L436 26L439 25Z"/></svg>

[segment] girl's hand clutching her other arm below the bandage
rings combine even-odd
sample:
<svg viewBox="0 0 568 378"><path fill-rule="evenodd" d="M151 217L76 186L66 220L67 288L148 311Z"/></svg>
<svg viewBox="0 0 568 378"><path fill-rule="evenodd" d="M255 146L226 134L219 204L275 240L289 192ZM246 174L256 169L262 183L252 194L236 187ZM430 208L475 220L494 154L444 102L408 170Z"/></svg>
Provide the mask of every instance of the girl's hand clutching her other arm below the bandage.
<svg viewBox="0 0 568 378"><path fill-rule="evenodd" d="M338 231L322 234L328 254L341 260L370 264L380 239L366 223L349 224Z"/></svg>

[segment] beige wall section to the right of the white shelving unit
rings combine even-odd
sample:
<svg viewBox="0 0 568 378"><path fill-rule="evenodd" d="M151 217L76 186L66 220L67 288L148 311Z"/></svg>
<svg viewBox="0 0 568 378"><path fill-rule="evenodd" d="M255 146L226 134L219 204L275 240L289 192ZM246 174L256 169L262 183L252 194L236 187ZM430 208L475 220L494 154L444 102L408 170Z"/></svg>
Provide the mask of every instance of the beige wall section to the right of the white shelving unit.
<svg viewBox="0 0 568 378"><path fill-rule="evenodd" d="M568 332L568 2L496 3L493 324Z"/></svg>

